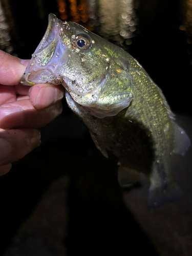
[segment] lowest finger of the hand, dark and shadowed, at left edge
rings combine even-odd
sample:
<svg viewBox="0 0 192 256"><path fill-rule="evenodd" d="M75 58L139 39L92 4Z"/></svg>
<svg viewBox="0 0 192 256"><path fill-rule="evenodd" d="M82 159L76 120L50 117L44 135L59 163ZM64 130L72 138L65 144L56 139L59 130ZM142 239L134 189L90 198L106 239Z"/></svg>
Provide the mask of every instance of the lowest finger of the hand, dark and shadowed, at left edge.
<svg viewBox="0 0 192 256"><path fill-rule="evenodd" d="M40 132L37 129L18 129L1 132L0 166L23 158L39 145Z"/></svg>

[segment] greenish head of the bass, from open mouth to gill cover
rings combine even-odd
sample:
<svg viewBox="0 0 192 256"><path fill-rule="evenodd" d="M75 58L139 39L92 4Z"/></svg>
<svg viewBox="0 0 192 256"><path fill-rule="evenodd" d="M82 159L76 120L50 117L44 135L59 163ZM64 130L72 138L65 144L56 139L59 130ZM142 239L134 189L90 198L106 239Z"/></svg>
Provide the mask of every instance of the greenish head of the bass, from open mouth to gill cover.
<svg viewBox="0 0 192 256"><path fill-rule="evenodd" d="M96 117L113 116L134 98L133 78L119 62L119 51L81 25L50 14L23 81L62 84L73 100Z"/></svg>

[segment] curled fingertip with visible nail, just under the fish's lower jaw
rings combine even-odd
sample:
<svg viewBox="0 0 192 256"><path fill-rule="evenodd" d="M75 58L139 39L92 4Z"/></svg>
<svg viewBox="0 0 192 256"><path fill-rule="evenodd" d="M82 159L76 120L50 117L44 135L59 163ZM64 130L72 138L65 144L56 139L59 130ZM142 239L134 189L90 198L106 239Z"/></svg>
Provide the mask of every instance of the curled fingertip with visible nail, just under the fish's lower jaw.
<svg viewBox="0 0 192 256"><path fill-rule="evenodd" d="M64 88L59 84L36 84L29 92L31 103L36 110L47 108L62 99Z"/></svg>

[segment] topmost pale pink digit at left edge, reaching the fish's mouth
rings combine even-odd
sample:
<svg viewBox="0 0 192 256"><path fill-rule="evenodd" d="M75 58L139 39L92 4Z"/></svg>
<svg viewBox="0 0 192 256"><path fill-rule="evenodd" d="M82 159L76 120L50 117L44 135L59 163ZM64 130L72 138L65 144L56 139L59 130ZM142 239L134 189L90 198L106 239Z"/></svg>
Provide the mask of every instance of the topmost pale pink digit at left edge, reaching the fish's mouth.
<svg viewBox="0 0 192 256"><path fill-rule="evenodd" d="M9 86L18 84L25 70L26 66L19 58L0 50L0 83Z"/></svg>

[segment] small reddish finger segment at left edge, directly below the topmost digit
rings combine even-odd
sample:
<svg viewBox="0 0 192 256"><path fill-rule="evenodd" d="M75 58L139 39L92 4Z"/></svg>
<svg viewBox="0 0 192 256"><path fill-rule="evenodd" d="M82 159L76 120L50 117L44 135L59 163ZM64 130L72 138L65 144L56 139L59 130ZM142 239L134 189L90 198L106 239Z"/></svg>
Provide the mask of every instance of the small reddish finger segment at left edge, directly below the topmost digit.
<svg viewBox="0 0 192 256"><path fill-rule="evenodd" d="M0 84L0 105L15 100L16 91L14 86L3 86L2 84Z"/></svg>

